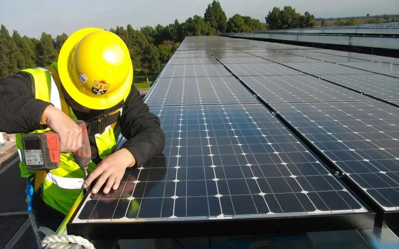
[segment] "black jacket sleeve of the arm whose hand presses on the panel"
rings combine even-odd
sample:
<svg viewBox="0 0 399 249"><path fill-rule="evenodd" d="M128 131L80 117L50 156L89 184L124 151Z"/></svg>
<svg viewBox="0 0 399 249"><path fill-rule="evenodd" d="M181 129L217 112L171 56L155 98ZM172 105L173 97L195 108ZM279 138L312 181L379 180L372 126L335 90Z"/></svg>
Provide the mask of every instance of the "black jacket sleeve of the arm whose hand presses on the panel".
<svg viewBox="0 0 399 249"><path fill-rule="evenodd" d="M158 116L140 98L140 92L132 85L119 121L127 148L135 157L134 167L140 166L160 154L165 147L165 133Z"/></svg>

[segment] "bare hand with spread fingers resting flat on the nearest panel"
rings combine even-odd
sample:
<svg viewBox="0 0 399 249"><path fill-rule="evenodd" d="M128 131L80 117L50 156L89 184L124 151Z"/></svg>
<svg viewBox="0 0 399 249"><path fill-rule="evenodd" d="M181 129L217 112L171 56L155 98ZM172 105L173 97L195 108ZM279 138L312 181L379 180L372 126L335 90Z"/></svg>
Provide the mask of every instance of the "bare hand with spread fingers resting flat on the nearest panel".
<svg viewBox="0 0 399 249"><path fill-rule="evenodd" d="M104 194L108 194L111 188L117 190L126 168L132 165L133 160L133 155L128 149L122 148L115 151L102 160L88 175L86 181L83 183L83 188L86 189L98 177L96 184L91 190L93 194L96 194L105 182L107 183L103 190Z"/></svg>

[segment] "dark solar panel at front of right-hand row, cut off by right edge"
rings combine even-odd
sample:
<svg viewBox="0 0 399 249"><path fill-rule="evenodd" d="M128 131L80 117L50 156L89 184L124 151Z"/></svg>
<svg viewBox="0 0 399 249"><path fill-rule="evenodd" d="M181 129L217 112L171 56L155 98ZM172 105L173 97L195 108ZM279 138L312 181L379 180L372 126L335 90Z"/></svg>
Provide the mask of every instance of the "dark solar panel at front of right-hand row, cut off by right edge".
<svg viewBox="0 0 399 249"><path fill-rule="evenodd" d="M399 210L399 109L381 102L272 104L385 211Z"/></svg>

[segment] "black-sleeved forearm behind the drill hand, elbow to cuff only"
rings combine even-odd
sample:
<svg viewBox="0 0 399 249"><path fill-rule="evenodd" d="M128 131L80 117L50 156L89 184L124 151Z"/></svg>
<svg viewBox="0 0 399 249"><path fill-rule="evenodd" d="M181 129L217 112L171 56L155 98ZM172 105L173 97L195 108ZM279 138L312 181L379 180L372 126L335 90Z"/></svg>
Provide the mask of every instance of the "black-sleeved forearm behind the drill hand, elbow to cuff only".
<svg viewBox="0 0 399 249"><path fill-rule="evenodd" d="M40 119L49 105L32 97L0 92L0 131L26 133L42 128Z"/></svg>

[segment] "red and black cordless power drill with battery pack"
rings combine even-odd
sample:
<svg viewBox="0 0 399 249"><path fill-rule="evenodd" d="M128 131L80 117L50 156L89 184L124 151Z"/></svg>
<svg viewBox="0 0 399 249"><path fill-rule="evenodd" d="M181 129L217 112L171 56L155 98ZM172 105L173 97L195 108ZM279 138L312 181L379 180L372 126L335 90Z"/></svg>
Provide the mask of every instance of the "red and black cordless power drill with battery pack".
<svg viewBox="0 0 399 249"><path fill-rule="evenodd" d="M87 166L91 161L91 148L86 123L76 121L82 129L82 147L73 151L75 162L84 171L84 180L87 178ZM60 139L54 131L44 133L28 133L22 136L23 158L29 170L56 169L60 164Z"/></svg>

